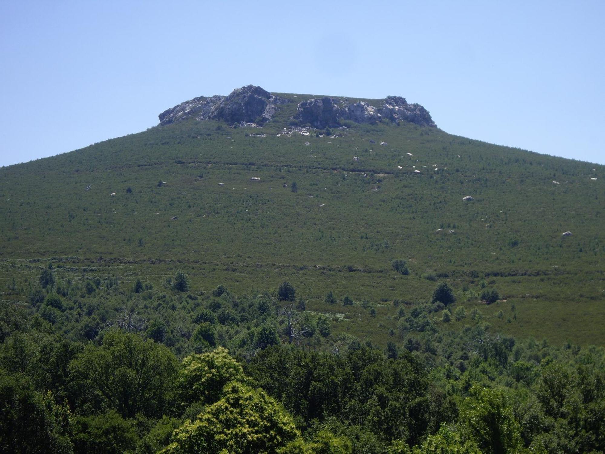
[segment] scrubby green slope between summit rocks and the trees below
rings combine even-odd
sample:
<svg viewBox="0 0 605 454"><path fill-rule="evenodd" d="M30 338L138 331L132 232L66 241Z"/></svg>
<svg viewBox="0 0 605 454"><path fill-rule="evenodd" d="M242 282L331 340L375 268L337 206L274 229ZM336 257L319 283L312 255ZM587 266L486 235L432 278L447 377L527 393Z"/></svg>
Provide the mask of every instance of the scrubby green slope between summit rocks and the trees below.
<svg viewBox="0 0 605 454"><path fill-rule="evenodd" d="M259 130L188 120L0 169L1 277L35 280L43 263L31 259L63 257L74 279L159 282L183 268L197 288L235 292L289 280L307 308L346 312L339 329L384 342L390 301L426 300L435 283L422 277L447 275L458 304L502 331L605 343L603 166L410 123L276 137L295 107ZM507 301L479 304L483 278ZM329 290L374 303L376 318L326 306Z"/></svg>

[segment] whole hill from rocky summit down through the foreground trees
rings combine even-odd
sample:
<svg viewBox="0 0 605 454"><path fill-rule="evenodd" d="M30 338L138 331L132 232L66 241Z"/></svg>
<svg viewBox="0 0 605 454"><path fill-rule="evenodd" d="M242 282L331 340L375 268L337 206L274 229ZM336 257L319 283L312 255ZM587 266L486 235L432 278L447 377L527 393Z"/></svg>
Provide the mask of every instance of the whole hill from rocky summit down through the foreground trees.
<svg viewBox="0 0 605 454"><path fill-rule="evenodd" d="M362 101L1 168L0 450L603 452L605 167Z"/></svg>

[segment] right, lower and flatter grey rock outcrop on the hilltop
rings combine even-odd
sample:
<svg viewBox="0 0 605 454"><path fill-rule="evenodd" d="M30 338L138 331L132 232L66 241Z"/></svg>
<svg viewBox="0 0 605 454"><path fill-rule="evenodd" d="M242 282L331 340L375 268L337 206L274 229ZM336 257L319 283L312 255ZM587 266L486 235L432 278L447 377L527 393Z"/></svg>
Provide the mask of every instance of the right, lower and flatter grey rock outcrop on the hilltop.
<svg viewBox="0 0 605 454"><path fill-rule="evenodd" d="M364 101L340 107L331 97L312 98L299 102L296 119L310 123L314 128L336 127L341 119L356 123L376 123L382 119L399 123L405 120L420 126L436 126L424 107L408 104L401 96L388 96L378 107Z"/></svg>

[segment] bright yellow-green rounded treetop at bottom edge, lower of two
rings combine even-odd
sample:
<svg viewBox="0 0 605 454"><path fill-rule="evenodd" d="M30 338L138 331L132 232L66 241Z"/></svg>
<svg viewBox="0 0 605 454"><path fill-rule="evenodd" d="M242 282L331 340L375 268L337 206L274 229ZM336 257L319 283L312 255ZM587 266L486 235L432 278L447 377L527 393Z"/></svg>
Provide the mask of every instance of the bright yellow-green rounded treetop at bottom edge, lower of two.
<svg viewBox="0 0 605 454"><path fill-rule="evenodd" d="M263 390L232 381L223 398L172 434L161 454L275 453L300 437L280 403Z"/></svg>

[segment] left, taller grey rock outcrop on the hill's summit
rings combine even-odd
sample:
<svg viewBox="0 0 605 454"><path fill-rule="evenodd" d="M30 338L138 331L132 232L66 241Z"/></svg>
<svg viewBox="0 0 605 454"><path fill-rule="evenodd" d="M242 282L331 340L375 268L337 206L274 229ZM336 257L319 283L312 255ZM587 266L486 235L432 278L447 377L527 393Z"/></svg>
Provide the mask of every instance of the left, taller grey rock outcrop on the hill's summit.
<svg viewBox="0 0 605 454"><path fill-rule="evenodd" d="M196 120L224 120L227 123L264 123L270 120L276 106L290 102L274 96L261 87L247 85L237 88L229 96L199 96L175 105L159 115L160 124L180 122L195 116Z"/></svg>

